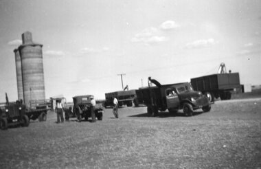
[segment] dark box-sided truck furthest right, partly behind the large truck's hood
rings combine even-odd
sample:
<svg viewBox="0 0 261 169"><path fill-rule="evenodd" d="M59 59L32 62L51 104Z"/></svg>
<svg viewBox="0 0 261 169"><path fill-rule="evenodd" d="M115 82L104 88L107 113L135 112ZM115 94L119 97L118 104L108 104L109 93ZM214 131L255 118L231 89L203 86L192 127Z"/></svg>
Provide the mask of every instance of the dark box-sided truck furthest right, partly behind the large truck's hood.
<svg viewBox="0 0 261 169"><path fill-rule="evenodd" d="M219 97L221 100L230 100L231 93L241 89L238 73L211 74L191 78L190 82L195 90L203 92L211 102Z"/></svg>

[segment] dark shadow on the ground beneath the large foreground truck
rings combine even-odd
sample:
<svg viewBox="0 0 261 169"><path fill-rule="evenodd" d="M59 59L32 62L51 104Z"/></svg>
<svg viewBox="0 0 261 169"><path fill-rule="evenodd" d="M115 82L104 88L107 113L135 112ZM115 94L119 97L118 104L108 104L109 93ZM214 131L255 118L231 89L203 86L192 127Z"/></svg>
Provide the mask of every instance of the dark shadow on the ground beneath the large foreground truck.
<svg viewBox="0 0 261 169"><path fill-rule="evenodd" d="M202 114L203 111L196 111L193 113L193 116L200 115ZM137 114L137 115L129 115L128 117L152 117L148 113L142 113L142 114ZM177 112L177 113L170 113L168 111L162 111L159 112L157 116L159 118L166 118L166 117L187 117L183 112Z"/></svg>

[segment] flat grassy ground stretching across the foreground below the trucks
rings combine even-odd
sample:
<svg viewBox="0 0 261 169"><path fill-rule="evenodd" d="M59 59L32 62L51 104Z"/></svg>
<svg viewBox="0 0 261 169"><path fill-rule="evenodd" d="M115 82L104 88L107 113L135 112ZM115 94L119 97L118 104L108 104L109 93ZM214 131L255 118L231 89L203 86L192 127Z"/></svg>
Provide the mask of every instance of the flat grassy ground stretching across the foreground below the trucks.
<svg viewBox="0 0 261 169"><path fill-rule="evenodd" d="M261 168L261 98L216 101L209 113L148 117L146 107L0 131L1 168Z"/></svg>

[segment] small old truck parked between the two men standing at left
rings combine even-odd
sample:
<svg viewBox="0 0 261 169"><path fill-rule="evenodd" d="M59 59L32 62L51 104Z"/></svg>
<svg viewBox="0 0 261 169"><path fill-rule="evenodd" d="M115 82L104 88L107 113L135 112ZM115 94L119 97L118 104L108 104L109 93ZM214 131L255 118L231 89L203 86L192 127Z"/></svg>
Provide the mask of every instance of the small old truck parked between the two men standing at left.
<svg viewBox="0 0 261 169"><path fill-rule="evenodd" d="M83 118L87 121L88 118L91 117L91 98L93 98L93 95L74 96L73 109L69 114L69 117L77 117L78 122L81 122ZM96 102L94 112L95 117L97 117L98 120L102 120L104 113L102 102Z"/></svg>

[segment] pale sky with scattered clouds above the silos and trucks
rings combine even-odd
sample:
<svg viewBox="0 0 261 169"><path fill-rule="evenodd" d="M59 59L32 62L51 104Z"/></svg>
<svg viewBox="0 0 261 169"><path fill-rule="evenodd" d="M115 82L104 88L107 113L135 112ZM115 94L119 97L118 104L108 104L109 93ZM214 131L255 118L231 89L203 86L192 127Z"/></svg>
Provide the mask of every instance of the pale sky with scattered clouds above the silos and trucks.
<svg viewBox="0 0 261 169"><path fill-rule="evenodd" d="M13 50L43 44L45 97L138 89L217 74L261 84L260 0L0 0L0 102L17 100Z"/></svg>

